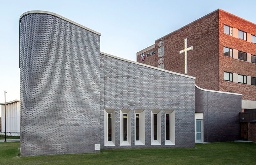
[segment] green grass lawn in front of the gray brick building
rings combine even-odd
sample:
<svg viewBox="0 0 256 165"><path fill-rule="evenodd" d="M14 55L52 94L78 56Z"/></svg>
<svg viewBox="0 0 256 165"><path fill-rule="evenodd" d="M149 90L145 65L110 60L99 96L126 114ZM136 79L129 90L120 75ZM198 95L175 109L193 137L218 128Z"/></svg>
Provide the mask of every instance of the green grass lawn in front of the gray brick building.
<svg viewBox="0 0 256 165"><path fill-rule="evenodd" d="M0 143L0 164L256 164L255 143L223 142L196 144L195 148L115 149L33 157L19 157L19 146L20 142Z"/></svg>

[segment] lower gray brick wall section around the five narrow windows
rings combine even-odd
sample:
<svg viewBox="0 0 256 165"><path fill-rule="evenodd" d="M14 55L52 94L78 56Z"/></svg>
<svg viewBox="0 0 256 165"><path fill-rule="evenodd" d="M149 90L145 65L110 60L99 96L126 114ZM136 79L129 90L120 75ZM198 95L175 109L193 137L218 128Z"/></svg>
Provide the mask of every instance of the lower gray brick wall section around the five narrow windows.
<svg viewBox="0 0 256 165"><path fill-rule="evenodd" d="M105 109L115 109L115 148L194 147L194 79L102 55ZM131 109L131 146L120 146L120 109ZM134 145L134 109L145 109L145 146ZM151 109L161 109L161 145L151 145ZM175 145L164 145L164 109L175 109ZM104 111L102 111L104 115ZM102 118L104 123L104 118ZM104 132L104 125L102 125Z"/></svg>

